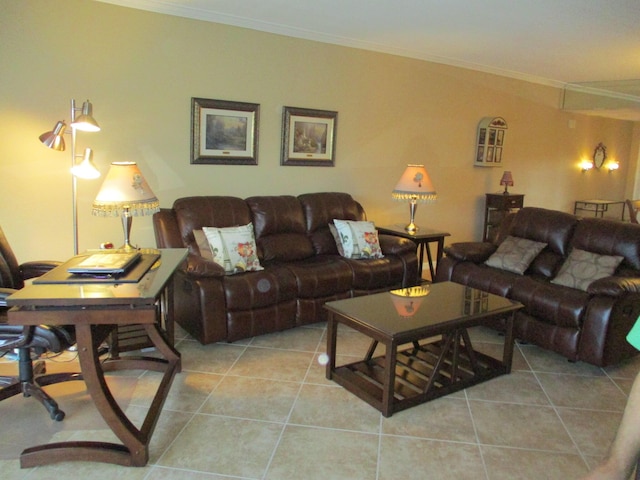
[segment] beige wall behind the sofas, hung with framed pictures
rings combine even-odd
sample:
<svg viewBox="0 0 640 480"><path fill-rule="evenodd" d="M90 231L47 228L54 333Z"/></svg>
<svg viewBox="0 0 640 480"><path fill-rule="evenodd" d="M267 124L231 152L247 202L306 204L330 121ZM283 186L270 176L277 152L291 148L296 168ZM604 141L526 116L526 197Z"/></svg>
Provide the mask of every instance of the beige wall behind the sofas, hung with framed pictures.
<svg viewBox="0 0 640 480"><path fill-rule="evenodd" d="M94 149L103 175L112 161L138 162L165 207L186 195L333 190L378 224L402 222L408 206L391 190L407 163L424 163L438 203L420 205L418 223L478 239L484 194L501 190L503 171L473 166L485 116L508 122L504 167L527 205L571 211L575 199L632 188L640 129L561 112L550 86L86 0L0 9L0 224L21 261L72 253L71 157L37 139L69 119L71 98L91 99L102 126L79 133L79 149ZM261 105L258 166L189 164L191 97ZM335 167L280 166L283 106L339 112ZM620 170L581 173L598 142ZM122 241L117 219L90 214L99 185L79 183L81 251ZM149 218L134 220L132 242L154 244Z"/></svg>

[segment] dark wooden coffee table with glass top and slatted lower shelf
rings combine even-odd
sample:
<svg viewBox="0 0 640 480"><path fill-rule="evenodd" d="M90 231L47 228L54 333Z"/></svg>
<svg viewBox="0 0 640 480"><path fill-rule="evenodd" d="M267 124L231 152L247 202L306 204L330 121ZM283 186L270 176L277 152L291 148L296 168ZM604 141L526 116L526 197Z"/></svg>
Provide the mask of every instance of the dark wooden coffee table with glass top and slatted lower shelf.
<svg viewBox="0 0 640 480"><path fill-rule="evenodd" d="M522 304L451 282L327 302L327 378L385 417L511 372ZM371 338L361 361L336 365L338 325ZM468 328L504 329L502 359L473 349ZM385 347L374 357L378 344Z"/></svg>

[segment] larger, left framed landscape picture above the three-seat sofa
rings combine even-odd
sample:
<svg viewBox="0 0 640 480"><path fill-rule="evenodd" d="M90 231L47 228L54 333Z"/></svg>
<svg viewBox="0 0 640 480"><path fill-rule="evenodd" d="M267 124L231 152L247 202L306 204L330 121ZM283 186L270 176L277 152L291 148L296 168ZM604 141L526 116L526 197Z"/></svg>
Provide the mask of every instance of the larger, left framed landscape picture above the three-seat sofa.
<svg viewBox="0 0 640 480"><path fill-rule="evenodd" d="M191 99L191 163L257 165L257 103Z"/></svg>

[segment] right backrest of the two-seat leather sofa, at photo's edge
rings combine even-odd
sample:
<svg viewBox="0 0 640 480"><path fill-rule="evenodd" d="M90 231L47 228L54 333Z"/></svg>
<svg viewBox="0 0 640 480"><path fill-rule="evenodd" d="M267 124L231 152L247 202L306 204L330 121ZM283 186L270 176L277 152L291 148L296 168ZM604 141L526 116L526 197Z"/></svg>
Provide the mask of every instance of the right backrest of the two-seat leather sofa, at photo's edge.
<svg viewBox="0 0 640 480"><path fill-rule="evenodd" d="M573 248L624 257L619 268L640 270L640 225L603 218L583 218L571 240Z"/></svg>

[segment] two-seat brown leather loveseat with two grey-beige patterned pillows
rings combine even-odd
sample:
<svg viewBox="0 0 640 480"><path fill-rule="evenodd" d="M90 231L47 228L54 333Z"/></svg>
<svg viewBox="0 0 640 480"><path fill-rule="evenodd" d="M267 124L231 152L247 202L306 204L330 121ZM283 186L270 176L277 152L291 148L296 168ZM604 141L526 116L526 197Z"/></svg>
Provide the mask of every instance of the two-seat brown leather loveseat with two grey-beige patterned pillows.
<svg viewBox="0 0 640 480"><path fill-rule="evenodd" d="M547 244L522 275L484 263L509 235ZM612 276L586 291L552 283L572 249L623 260ZM454 243L445 253L436 281L524 304L515 318L516 338L601 367L638 353L625 337L640 316L639 225L526 207L507 217L495 243Z"/></svg>

